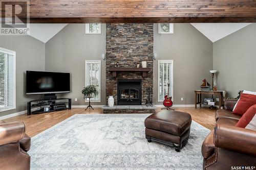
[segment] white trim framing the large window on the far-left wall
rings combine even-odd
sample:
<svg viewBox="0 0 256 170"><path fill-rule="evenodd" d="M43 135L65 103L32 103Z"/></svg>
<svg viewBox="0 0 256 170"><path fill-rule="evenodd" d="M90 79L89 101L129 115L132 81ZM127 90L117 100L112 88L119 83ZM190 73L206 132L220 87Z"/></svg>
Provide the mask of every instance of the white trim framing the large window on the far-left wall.
<svg viewBox="0 0 256 170"><path fill-rule="evenodd" d="M13 56L13 107L0 109L0 112L16 109L16 52L0 47L0 52Z"/></svg>

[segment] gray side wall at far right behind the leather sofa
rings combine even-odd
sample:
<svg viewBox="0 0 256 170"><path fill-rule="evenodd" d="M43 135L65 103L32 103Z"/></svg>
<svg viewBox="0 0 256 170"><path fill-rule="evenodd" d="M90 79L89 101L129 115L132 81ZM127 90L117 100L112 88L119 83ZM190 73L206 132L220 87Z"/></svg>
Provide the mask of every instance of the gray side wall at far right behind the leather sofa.
<svg viewBox="0 0 256 170"><path fill-rule="evenodd" d="M214 42L218 89L228 97L239 90L256 91L256 23Z"/></svg>

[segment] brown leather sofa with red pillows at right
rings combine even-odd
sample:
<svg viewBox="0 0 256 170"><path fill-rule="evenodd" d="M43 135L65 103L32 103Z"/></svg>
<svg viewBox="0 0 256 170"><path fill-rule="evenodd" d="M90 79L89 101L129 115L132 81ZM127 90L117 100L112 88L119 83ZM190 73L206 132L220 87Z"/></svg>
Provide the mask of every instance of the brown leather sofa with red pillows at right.
<svg viewBox="0 0 256 170"><path fill-rule="evenodd" d="M235 126L241 118L232 114L236 103L237 100L225 100L224 109L216 111L216 127L202 144L205 170L254 169L256 166L256 129Z"/></svg>

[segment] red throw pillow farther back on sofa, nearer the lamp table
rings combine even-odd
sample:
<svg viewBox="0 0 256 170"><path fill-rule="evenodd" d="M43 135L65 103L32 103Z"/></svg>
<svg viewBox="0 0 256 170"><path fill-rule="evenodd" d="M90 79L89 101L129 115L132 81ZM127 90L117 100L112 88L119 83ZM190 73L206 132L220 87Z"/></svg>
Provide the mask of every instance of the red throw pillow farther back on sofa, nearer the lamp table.
<svg viewBox="0 0 256 170"><path fill-rule="evenodd" d="M233 114L243 115L252 105L256 105L256 95L241 93Z"/></svg>

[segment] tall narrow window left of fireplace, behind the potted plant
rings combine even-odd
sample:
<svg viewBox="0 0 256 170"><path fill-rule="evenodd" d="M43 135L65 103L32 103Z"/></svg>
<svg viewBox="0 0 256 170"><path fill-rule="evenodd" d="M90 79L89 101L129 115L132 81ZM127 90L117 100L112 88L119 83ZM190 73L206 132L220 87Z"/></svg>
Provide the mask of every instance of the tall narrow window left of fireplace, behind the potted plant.
<svg viewBox="0 0 256 170"><path fill-rule="evenodd" d="M95 98L91 98L93 102L100 102L100 67L100 60L86 60L86 86L95 85L98 89L98 95Z"/></svg>

